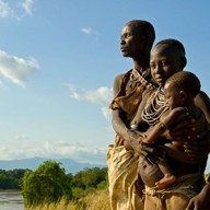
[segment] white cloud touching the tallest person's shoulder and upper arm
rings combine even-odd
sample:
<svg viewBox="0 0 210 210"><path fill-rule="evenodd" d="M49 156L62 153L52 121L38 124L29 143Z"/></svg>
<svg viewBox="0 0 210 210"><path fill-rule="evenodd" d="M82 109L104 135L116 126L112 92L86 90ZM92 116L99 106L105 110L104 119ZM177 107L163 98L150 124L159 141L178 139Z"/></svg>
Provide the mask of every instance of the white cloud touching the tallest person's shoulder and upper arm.
<svg viewBox="0 0 210 210"><path fill-rule="evenodd" d="M78 90L73 84L66 84L70 90L70 97L75 101L86 101L101 106L103 116L110 119L110 110L108 105L113 98L113 89L101 86L96 90L82 91Z"/></svg>

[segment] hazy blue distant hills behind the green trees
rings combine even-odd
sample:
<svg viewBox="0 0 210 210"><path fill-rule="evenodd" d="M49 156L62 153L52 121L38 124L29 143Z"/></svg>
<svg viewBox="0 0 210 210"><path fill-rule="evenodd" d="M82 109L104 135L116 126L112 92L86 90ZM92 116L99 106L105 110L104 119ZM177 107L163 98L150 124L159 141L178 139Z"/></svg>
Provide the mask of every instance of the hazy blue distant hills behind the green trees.
<svg viewBox="0 0 210 210"><path fill-rule="evenodd" d="M39 164L45 161L54 160L58 163L61 163L61 166L66 170L66 173L75 174L84 170L85 167L106 167L106 165L100 164L89 164L89 163L79 163L72 159L45 159L45 158L32 158L32 159L22 159L22 160L7 160L0 161L0 170L36 170Z"/></svg>

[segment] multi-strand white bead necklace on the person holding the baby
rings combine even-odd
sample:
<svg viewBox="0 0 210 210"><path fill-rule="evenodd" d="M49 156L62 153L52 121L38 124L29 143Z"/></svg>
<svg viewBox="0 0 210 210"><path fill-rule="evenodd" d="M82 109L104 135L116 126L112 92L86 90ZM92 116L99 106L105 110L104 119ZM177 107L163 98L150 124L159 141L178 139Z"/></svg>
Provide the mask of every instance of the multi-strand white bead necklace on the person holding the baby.
<svg viewBox="0 0 210 210"><path fill-rule="evenodd" d="M148 100L148 104L141 116L149 125L155 125L160 120L161 115L167 110L163 90L160 88Z"/></svg>

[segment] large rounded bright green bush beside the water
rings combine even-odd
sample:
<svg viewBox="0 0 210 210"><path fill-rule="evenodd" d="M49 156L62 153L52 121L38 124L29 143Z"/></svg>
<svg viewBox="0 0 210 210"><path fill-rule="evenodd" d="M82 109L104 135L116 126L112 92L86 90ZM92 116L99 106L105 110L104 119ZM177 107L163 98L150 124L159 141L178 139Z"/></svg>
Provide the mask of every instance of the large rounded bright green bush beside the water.
<svg viewBox="0 0 210 210"><path fill-rule="evenodd" d="M26 206L56 202L61 197L71 198L70 178L55 161L46 161L23 177L22 195Z"/></svg>

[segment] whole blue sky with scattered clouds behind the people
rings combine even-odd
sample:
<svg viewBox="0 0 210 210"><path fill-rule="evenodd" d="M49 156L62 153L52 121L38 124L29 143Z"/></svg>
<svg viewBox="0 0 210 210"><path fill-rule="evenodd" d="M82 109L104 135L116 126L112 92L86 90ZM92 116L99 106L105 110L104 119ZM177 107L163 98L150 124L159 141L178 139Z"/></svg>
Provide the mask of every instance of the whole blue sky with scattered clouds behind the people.
<svg viewBox="0 0 210 210"><path fill-rule="evenodd" d="M147 20L176 38L209 95L209 0L0 0L0 160L106 164L113 81L131 69L122 26ZM210 170L210 164L208 164Z"/></svg>

